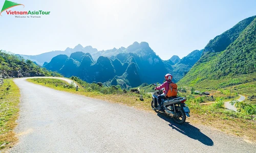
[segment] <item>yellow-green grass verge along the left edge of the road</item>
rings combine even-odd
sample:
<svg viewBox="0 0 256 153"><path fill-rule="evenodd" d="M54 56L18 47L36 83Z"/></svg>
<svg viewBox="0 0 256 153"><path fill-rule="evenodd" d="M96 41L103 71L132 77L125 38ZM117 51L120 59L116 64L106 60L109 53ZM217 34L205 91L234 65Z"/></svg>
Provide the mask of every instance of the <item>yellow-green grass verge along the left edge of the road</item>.
<svg viewBox="0 0 256 153"><path fill-rule="evenodd" d="M0 149L11 147L18 139L14 128L19 112L19 88L11 79L0 86Z"/></svg>

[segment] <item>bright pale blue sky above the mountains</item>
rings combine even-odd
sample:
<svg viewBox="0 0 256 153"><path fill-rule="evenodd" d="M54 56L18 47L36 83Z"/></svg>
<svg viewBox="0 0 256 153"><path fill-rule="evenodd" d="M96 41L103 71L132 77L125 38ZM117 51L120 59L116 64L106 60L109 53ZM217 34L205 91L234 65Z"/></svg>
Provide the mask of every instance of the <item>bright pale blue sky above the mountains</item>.
<svg viewBox="0 0 256 153"><path fill-rule="evenodd" d="M9 0L11 11L50 11L41 18L0 16L0 49L23 55L81 44L98 50L148 42L163 60L203 49L209 40L256 15L256 1ZM0 9L5 0L0 0ZM8 10L8 11L9 11ZM30 15L29 15L30 16Z"/></svg>

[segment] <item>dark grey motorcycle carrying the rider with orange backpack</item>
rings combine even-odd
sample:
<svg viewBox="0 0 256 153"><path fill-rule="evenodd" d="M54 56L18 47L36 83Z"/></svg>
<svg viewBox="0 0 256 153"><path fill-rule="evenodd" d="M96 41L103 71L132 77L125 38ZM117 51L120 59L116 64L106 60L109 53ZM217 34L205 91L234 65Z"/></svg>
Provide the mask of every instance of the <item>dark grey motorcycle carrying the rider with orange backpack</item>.
<svg viewBox="0 0 256 153"><path fill-rule="evenodd" d="M157 103L157 96L162 94L162 90L157 90L152 94L152 102L151 107L153 110L157 110L158 107ZM161 105L163 110L159 110L174 119L175 122L182 124L186 120L186 116L190 117L189 115L189 108L184 103L186 101L185 97L169 97L161 99ZM157 104L157 106L155 106Z"/></svg>

